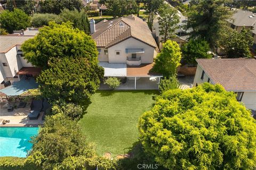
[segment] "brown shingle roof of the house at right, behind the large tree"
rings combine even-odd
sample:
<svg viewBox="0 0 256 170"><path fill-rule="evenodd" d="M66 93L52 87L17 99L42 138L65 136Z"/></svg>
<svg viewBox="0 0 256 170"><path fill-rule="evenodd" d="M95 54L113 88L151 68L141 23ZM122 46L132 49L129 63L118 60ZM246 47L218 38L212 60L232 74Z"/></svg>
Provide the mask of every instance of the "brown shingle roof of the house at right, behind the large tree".
<svg viewBox="0 0 256 170"><path fill-rule="evenodd" d="M256 91L256 60L249 58L196 59L213 83L228 91Z"/></svg>

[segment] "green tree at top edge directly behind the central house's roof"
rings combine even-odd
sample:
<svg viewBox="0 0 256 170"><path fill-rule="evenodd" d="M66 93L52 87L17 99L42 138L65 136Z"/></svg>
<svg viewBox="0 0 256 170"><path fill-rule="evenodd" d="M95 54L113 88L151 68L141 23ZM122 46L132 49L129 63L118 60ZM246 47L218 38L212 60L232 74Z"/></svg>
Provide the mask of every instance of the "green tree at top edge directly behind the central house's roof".
<svg viewBox="0 0 256 170"><path fill-rule="evenodd" d="M134 0L107 0L105 5L108 7L108 13L114 18L139 13L139 6Z"/></svg>

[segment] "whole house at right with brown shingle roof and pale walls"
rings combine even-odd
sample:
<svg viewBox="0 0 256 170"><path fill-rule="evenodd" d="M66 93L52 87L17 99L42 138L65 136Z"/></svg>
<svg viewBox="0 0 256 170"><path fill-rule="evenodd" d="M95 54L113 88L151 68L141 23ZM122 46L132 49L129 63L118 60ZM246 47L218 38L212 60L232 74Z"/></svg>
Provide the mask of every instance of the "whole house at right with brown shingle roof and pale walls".
<svg viewBox="0 0 256 170"><path fill-rule="evenodd" d="M249 58L197 59L194 86L204 82L221 84L234 91L237 100L256 110L256 60Z"/></svg>

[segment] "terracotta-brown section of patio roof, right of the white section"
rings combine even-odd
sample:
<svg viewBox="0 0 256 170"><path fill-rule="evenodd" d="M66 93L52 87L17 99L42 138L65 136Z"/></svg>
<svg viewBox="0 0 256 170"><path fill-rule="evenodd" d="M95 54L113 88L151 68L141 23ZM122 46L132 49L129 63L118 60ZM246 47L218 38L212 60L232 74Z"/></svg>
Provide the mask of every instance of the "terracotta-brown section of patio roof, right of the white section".
<svg viewBox="0 0 256 170"><path fill-rule="evenodd" d="M162 74L151 72L154 63L137 66L127 65L127 77L163 77Z"/></svg>

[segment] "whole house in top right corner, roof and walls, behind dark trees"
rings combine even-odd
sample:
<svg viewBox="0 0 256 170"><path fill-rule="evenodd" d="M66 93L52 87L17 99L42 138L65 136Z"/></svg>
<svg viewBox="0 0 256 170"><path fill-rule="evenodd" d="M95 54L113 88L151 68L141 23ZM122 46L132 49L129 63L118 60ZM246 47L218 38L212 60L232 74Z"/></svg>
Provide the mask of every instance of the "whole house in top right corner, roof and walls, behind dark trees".
<svg viewBox="0 0 256 170"><path fill-rule="evenodd" d="M256 15L246 10L234 10L234 14L230 20L228 20L229 27L233 28L237 32L241 32L243 28L253 29L256 22Z"/></svg>

